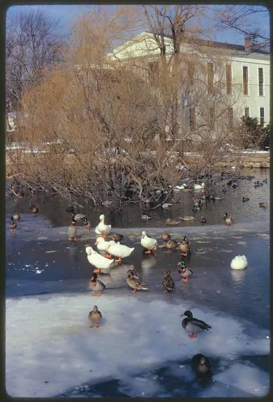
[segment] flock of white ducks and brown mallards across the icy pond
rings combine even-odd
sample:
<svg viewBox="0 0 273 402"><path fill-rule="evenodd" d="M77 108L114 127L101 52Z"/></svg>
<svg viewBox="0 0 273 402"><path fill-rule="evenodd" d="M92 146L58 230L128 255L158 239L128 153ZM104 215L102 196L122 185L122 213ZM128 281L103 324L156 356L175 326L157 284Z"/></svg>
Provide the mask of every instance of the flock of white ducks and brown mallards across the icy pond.
<svg viewBox="0 0 273 402"><path fill-rule="evenodd" d="M252 176L250 176L252 178ZM251 179L250 178L250 179ZM266 182L267 180L263 180ZM236 182L234 180L230 180L230 182L227 183L228 185L236 186ZM254 183L255 187L261 186L263 183L260 183L259 181ZM223 196L216 196L215 194L210 195L206 193L205 190L205 184L195 184L194 189L201 189L202 191L199 193L199 198L194 198L194 206L193 206L193 211L200 211L202 209L202 205L204 203L205 199L208 200L213 200L215 201L216 199L222 199ZM187 189L187 184L183 183L181 185L177 185L176 188L178 190L183 190ZM236 187L234 187L236 188ZM223 188L223 192L226 192L226 188ZM248 201L249 198L242 197L242 202ZM180 202L180 200L174 200L173 198L171 199L172 203L165 203L162 205L163 209L168 209L172 206L173 203L175 202ZM267 203L260 203L260 207L266 208ZM37 215L39 210L38 208L30 204L30 210L34 215ZM90 222L87 220L85 215L83 214L75 214L73 207L67 208L68 212L73 212L72 215L72 222L70 226L68 227L67 234L68 234L68 240L69 241L76 241L77 240L77 228L76 228L76 222L81 221L82 227L84 228L85 231L90 230ZM141 216L143 220L150 219L151 217L148 215L143 214ZM224 215L224 220L225 223L228 225L228 227L232 226L233 224L233 219L230 214L225 213ZM11 218L9 222L9 227L11 231L15 231L17 228L17 223L20 220L20 215L19 213L15 213ZM182 221L191 221L195 220L194 217L192 216L183 216L180 217L180 220ZM206 218L201 217L201 222L206 223ZM166 224L170 225L177 225L179 221L173 221L170 219L167 219ZM93 292L94 296L101 296L102 291L105 289L105 284L98 279L98 274L101 273L102 270L106 270L111 268L111 265L114 262L117 262L118 264L121 265L122 259L129 257L132 252L135 250L134 247L130 248L127 247L126 245L121 244L120 242L123 240L123 235L118 234L118 233L113 233L111 235L110 241L107 241L107 237L109 236L111 232L111 225L105 224L105 216L101 215L100 216L100 222L95 228L95 233L97 235L97 239L95 242L95 246L97 246L98 250L100 252L104 252L105 255L100 254L96 250L94 250L89 244L85 244L85 251L87 254L87 260L90 264L94 266L93 274L90 277L88 286ZM171 239L171 236L165 231L162 236L161 236L162 241L164 242L164 246L167 249L175 249L179 247L181 251L181 258L180 261L177 263L179 265L178 273L181 275L181 280L188 282L189 277L193 274L193 271L189 269L186 266L185 259L183 257L187 257L188 253L191 252L191 242L188 240L187 236L184 236L184 239L181 241L180 244L176 240ZM145 231L142 232L141 234L141 240L140 240L141 246L146 250L146 254L151 254L153 253L154 257L156 257L156 251L157 251L157 240L151 238ZM114 258L113 258L114 257ZM116 258L115 258L116 257ZM113 266L113 265L112 265ZM233 258L231 262L231 268L232 269L244 269L247 266L247 260L245 256L236 256ZM170 293L171 291L174 290L175 286L175 281L171 276L171 271L166 270L164 272L164 276L162 278L162 286L164 288L164 293ZM145 282L141 278L139 272L134 268L134 265L129 265L128 270L126 272L127 279L126 282L127 284L133 289L133 293L136 293L137 290L148 290L146 287ZM183 319L181 322L182 327L191 332L188 336L190 338L196 338L197 334L203 331L208 331L212 327L209 324L206 324L204 321L196 319L193 317L193 314L191 311L186 311L184 314L181 316L186 316L186 318ZM90 321L90 328L94 327L94 324L96 324L97 328L100 328L100 321L102 320L102 313L98 310L97 306L94 306L94 309L89 312L88 319ZM198 373L198 374L205 374L208 373L210 370L210 361L209 359L202 355L198 354L195 355L192 359L191 366L193 370Z"/></svg>

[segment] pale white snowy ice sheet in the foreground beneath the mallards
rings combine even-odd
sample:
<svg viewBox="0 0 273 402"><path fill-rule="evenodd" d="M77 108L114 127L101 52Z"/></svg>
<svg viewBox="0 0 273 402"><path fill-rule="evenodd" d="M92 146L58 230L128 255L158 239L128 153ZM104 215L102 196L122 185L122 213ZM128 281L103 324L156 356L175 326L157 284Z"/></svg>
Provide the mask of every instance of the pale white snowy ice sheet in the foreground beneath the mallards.
<svg viewBox="0 0 273 402"><path fill-rule="evenodd" d="M101 328L89 328L88 313L94 305L103 315ZM193 308L194 317L210 324L212 330L190 339L181 327L184 317L180 317L188 308L173 300L156 299L147 304L141 300L141 292L8 298L7 392L13 397L53 397L78 384L117 379L128 396L171 396L164 393L157 377L139 373L203 353L229 362L229 367L214 377L219 384L250 395L266 394L268 374L236 359L268 354L269 332L252 324L253 331L247 334L242 320ZM180 366L177 370L183 373Z"/></svg>

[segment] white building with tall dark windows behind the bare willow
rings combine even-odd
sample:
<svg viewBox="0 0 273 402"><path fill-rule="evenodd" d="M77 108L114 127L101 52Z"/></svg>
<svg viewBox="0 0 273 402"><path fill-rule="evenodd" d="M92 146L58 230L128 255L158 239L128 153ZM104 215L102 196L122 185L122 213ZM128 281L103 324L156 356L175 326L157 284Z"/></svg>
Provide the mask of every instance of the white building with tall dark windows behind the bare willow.
<svg viewBox="0 0 273 402"><path fill-rule="evenodd" d="M173 45L167 36L164 42L168 60L173 55ZM245 38L244 46L190 38L181 43L179 55L179 68L187 78L187 85L181 86L178 93L180 134L185 133L186 126L196 130L198 122L206 119L209 127L217 117L220 128L224 120L223 108L226 108L230 128L242 116L269 123L269 53L251 48L250 38ZM142 69L146 65L148 79L152 74L156 77L160 49L151 33L142 32L114 49L108 57L121 65L129 63ZM207 114L204 108L202 110L204 104ZM214 123L209 128L214 129Z"/></svg>

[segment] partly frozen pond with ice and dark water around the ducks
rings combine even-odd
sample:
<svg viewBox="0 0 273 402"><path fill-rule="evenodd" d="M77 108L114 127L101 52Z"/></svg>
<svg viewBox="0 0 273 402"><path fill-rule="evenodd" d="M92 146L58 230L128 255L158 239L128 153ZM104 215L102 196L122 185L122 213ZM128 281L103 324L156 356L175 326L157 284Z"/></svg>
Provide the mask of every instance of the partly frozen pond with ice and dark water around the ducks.
<svg viewBox="0 0 273 402"><path fill-rule="evenodd" d="M264 170L254 169L251 174L255 180L258 174L269 178ZM237 199L240 186L245 186L242 195L250 198L248 203ZM225 199L208 203L208 216L217 216L216 222L167 228L173 239L181 241L187 235L192 242L192 253L186 258L193 270L189 282L182 282L177 273L179 249L162 247L163 222L165 216L171 217L169 211L152 213L160 218L157 225L155 218L147 224L133 214L131 227L129 221L115 225L113 231L124 234L123 244L135 250L121 266L115 264L100 275L106 285L101 297L88 292L93 266L84 244L95 242L94 228L86 233L77 224L78 241L70 243L66 234L70 214L63 212L66 203L36 194L31 201L9 200L7 222L16 210L21 220L15 233L8 228L6 232L8 393L22 397L265 395L269 386L269 208L259 209L257 203L268 202L269 179L263 187L253 188L253 181L241 180L233 198L238 208L232 203L221 206ZM39 206L37 217L30 215L29 202ZM222 211L237 217L232 228L225 225ZM93 214L92 226L100 213ZM145 254L140 245L146 225L149 235L158 240L156 258ZM230 262L239 254L247 257L248 266L231 270ZM149 290L132 294L126 283L129 264L139 270ZM175 279L170 294L163 293L161 283L166 269ZM88 313L94 305L103 315L99 329L89 328ZM186 310L212 330L190 339L181 327L180 315ZM198 378L191 369L191 358L197 353L211 360L212 376L207 379Z"/></svg>

